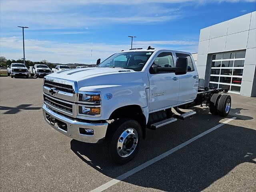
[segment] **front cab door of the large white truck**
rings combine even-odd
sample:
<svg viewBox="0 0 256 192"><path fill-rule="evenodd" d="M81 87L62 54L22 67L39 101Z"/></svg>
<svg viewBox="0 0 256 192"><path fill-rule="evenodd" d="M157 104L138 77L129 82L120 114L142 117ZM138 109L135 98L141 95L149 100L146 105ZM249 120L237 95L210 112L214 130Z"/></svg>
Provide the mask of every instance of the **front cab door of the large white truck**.
<svg viewBox="0 0 256 192"><path fill-rule="evenodd" d="M148 70L149 112L169 108L178 103L180 79L174 72L154 72L152 65L174 67L172 52L160 52Z"/></svg>

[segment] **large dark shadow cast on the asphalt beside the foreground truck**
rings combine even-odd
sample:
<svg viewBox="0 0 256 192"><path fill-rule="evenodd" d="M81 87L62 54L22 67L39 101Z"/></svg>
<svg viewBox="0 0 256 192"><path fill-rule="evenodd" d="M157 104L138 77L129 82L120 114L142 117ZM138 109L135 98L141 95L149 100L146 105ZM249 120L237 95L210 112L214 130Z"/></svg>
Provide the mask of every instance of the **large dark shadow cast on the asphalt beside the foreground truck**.
<svg viewBox="0 0 256 192"><path fill-rule="evenodd" d="M102 144L71 140L70 148L92 168L110 178L116 178L216 126L222 120L222 117L212 116L201 109L197 112L199 116L186 120L185 125L177 121L154 132L148 130L137 156L122 166L116 166L104 158ZM204 120L200 114L204 114ZM163 191L201 191L239 164L256 164L255 141L256 130L226 124L126 178L124 182Z"/></svg>

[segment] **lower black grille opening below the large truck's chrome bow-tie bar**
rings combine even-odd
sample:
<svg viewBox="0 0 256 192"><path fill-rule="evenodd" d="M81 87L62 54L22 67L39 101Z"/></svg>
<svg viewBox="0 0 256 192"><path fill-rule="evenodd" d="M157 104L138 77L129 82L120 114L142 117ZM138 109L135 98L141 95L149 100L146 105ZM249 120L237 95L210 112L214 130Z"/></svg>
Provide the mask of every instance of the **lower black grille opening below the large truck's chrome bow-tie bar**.
<svg viewBox="0 0 256 192"><path fill-rule="evenodd" d="M44 102L48 103L50 106L58 108L62 111L73 113L73 106L72 104L66 103L64 101L56 100L52 97L44 95Z"/></svg>

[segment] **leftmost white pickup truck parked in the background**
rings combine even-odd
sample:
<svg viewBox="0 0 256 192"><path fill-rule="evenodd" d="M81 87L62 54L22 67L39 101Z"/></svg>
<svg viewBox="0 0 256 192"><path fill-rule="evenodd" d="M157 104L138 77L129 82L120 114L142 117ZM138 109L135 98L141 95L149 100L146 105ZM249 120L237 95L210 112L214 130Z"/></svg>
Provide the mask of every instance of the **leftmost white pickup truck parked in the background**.
<svg viewBox="0 0 256 192"><path fill-rule="evenodd" d="M23 63L12 63L11 66L7 66L7 75L11 76L11 78L17 76L28 78L28 68Z"/></svg>

